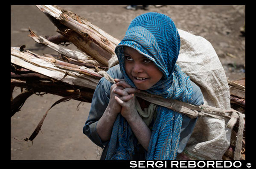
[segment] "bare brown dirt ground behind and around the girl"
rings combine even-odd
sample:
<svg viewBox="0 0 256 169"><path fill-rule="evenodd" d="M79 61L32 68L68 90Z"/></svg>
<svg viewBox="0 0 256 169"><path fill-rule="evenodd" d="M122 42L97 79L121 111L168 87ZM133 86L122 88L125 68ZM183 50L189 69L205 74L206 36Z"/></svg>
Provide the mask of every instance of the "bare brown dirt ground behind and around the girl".
<svg viewBox="0 0 256 169"><path fill-rule="evenodd" d="M245 6L149 6L147 11L141 8L130 11L125 6L60 7L87 18L117 39L122 39L137 15L146 12L166 14L177 28L212 43L229 80L245 77L245 37L240 33L240 27L245 24ZM28 37L29 27L41 36L58 34L56 27L36 6L11 6L11 46L26 45L25 49L37 54L56 54ZM69 48L77 50L72 45ZM15 88L14 97L19 93L20 89ZM71 100L57 104L49 111L33 145L15 140L29 137L58 99L61 97L51 94L32 95L11 118L11 160L99 160L97 152L101 148L82 132L90 103L79 105L79 101Z"/></svg>

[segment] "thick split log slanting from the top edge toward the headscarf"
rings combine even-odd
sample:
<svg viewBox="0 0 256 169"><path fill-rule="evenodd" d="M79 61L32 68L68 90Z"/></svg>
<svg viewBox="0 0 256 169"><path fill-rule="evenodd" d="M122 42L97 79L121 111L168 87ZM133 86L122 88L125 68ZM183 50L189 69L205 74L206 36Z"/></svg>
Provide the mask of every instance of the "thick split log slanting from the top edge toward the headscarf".
<svg viewBox="0 0 256 169"><path fill-rule="evenodd" d="M58 6L37 7L50 17L66 39L81 51L108 66L108 60L115 54L114 49L120 42L118 39L71 11L63 10Z"/></svg>

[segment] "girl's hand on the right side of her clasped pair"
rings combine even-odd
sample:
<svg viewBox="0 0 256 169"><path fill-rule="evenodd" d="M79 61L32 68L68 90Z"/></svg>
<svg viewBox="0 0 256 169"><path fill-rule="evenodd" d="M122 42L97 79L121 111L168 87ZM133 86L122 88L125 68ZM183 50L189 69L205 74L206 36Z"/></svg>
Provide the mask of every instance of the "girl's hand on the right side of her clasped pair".
<svg viewBox="0 0 256 169"><path fill-rule="evenodd" d="M140 92L140 90L131 87L123 79L115 79L117 86L124 87L124 89L116 89L114 93L118 94L121 97L115 96L115 100L122 106L121 115L128 119L131 119L137 115L137 110L135 107L135 98L134 93Z"/></svg>

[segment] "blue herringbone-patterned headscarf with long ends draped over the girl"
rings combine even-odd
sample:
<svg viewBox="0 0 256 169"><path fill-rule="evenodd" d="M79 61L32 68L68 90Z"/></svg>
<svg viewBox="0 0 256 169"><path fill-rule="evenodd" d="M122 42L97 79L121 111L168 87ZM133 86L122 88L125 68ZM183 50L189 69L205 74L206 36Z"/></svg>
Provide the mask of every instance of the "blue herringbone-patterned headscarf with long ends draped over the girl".
<svg viewBox="0 0 256 169"><path fill-rule="evenodd" d="M115 53L126 82L137 88L125 72L123 47L136 49L154 62L163 77L148 93L163 98L189 102L192 86L189 76L176 65L180 51L180 36L172 19L164 14L149 12L136 17L128 27L125 37L116 46ZM146 160L174 160L180 140L182 114L157 106ZM131 160L134 155L134 134L127 121L118 115L113 125L106 159Z"/></svg>

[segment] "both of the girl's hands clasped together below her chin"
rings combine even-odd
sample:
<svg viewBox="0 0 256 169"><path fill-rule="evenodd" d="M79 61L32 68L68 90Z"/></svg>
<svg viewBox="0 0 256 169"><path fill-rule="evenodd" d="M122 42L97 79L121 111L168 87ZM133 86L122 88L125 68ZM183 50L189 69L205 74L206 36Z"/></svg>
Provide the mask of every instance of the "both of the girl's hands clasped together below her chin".
<svg viewBox="0 0 256 169"><path fill-rule="evenodd" d="M140 90L131 87L124 79L114 80L116 84L111 86L111 109L115 113L121 113L128 120L136 115L134 113L137 113L134 93L138 93Z"/></svg>

